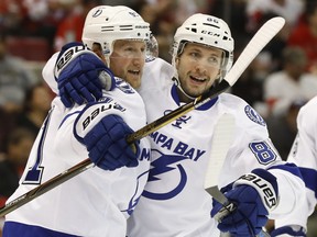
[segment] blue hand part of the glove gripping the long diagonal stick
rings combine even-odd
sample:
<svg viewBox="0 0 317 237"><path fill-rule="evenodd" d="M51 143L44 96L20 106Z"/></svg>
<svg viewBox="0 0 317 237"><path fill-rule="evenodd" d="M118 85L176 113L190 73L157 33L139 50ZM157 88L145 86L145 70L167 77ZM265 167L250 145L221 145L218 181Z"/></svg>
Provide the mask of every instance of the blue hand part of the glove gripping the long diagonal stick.
<svg viewBox="0 0 317 237"><path fill-rule="evenodd" d="M91 161L103 170L136 167L139 143L128 144L127 135L133 131L118 115L105 116L84 137Z"/></svg>

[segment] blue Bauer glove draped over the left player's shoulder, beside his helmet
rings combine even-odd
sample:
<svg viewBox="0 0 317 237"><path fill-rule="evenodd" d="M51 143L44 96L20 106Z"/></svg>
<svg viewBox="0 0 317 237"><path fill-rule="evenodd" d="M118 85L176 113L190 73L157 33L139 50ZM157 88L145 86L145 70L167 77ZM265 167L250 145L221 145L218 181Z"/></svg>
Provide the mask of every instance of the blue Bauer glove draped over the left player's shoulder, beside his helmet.
<svg viewBox="0 0 317 237"><path fill-rule="evenodd" d="M74 102L98 101L102 88L112 90L114 77L105 63L81 43L68 43L63 46L55 65L55 79L59 97L66 108Z"/></svg>

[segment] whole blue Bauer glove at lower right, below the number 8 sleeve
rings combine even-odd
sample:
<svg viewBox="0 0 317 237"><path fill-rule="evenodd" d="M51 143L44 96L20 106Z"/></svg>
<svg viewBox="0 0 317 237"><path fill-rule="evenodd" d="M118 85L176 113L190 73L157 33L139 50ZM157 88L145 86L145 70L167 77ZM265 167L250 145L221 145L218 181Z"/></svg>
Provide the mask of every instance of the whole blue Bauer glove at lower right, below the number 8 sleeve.
<svg viewBox="0 0 317 237"><path fill-rule="evenodd" d="M255 236L267 222L269 211L277 205L276 178L264 169L255 169L238 179L225 192L237 208L219 221L218 228L234 237ZM214 200L211 217L223 206Z"/></svg>

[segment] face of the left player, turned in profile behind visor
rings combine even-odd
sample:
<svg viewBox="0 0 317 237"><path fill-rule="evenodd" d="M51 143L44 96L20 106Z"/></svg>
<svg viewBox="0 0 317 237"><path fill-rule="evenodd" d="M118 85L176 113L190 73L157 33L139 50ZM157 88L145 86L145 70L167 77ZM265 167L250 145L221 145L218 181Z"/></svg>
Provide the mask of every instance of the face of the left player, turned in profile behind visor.
<svg viewBox="0 0 317 237"><path fill-rule="evenodd" d="M134 89L141 86L145 64L145 43L118 40L110 56L110 69L114 76L128 81Z"/></svg>

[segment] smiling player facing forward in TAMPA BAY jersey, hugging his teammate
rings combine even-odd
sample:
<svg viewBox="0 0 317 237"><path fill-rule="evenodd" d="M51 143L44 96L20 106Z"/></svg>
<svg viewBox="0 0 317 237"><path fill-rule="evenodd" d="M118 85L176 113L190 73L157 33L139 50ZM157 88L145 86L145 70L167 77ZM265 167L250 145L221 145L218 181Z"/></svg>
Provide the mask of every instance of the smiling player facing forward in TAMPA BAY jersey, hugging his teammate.
<svg viewBox="0 0 317 237"><path fill-rule="evenodd" d="M90 36L108 44L97 32ZM174 40L173 66L160 58L145 64L138 91L149 122L208 91L232 65L233 38L221 19L194 14L178 27ZM55 64L53 58L48 64ZM77 91L72 100L85 98L76 89L78 79L68 78L68 82L67 91ZM222 206L212 205L203 183L207 162L212 159L214 126L223 113L234 115L236 133L219 187L238 207L217 223L214 216ZM218 237L220 230L255 236L269 216L281 217L303 201L299 195L305 188L297 167L282 161L263 119L238 97L222 93L154 132L150 139L149 180L128 219L129 237Z"/></svg>

